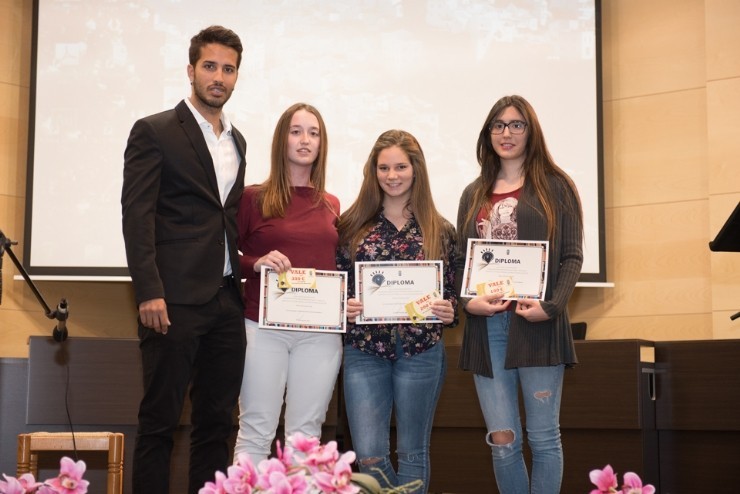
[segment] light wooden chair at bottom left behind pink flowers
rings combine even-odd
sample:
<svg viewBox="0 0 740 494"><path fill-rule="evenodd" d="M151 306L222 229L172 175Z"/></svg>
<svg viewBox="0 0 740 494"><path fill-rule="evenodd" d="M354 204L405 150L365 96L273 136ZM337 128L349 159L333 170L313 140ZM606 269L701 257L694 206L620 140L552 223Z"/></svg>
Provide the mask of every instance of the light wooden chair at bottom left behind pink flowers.
<svg viewBox="0 0 740 494"><path fill-rule="evenodd" d="M38 476L38 452L107 451L107 494L123 493L123 434L119 432L31 432L18 435L18 476Z"/></svg>

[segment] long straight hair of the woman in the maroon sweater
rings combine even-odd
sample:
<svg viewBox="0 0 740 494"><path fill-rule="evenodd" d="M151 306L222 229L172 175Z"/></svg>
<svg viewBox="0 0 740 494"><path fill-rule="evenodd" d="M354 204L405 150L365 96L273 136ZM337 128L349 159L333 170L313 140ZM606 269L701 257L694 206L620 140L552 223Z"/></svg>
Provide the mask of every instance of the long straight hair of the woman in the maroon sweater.
<svg viewBox="0 0 740 494"><path fill-rule="evenodd" d="M311 165L311 186L313 187L315 204L318 206L326 204L333 210L324 198L326 183L326 155L329 149L329 138L326 135L326 126L321 113L307 103L296 103L280 116L272 136L272 152L270 153L270 176L260 187L260 203L262 205L262 216L265 218L282 218L285 210L290 204L290 174L286 153L288 132L290 132L290 121L293 115L305 110L316 117L319 121L319 153L316 161ZM336 212L335 212L336 213Z"/></svg>

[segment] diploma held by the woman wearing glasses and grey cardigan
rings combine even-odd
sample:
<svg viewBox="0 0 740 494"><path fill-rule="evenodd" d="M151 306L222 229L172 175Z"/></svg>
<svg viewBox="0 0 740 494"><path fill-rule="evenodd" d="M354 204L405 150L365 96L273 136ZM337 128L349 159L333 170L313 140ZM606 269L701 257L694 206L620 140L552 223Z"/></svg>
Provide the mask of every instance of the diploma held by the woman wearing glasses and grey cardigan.
<svg viewBox="0 0 740 494"><path fill-rule="evenodd" d="M504 300L544 300L549 247L548 241L468 239L460 296L483 289Z"/></svg>

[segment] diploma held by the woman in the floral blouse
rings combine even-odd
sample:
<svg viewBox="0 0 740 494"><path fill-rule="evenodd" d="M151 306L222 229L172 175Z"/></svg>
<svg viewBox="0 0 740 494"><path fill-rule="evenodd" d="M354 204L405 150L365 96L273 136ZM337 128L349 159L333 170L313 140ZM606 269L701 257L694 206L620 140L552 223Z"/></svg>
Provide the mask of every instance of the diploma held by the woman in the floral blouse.
<svg viewBox="0 0 740 494"><path fill-rule="evenodd" d="M355 293L358 324L439 322L428 308L443 296L442 261L357 262Z"/></svg>

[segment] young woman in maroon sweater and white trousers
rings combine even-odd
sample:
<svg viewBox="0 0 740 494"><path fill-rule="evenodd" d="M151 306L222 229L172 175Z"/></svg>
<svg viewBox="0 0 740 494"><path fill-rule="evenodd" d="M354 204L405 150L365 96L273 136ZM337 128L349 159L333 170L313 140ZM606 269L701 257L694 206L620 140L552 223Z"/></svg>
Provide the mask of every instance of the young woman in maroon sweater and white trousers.
<svg viewBox="0 0 740 494"><path fill-rule="evenodd" d="M246 275L247 352L235 453L268 457L285 397L285 434L320 437L342 358L341 335L259 329L262 266L335 270L339 200L324 190L326 128L316 108L298 103L280 117L269 178L246 187L238 214Z"/></svg>

